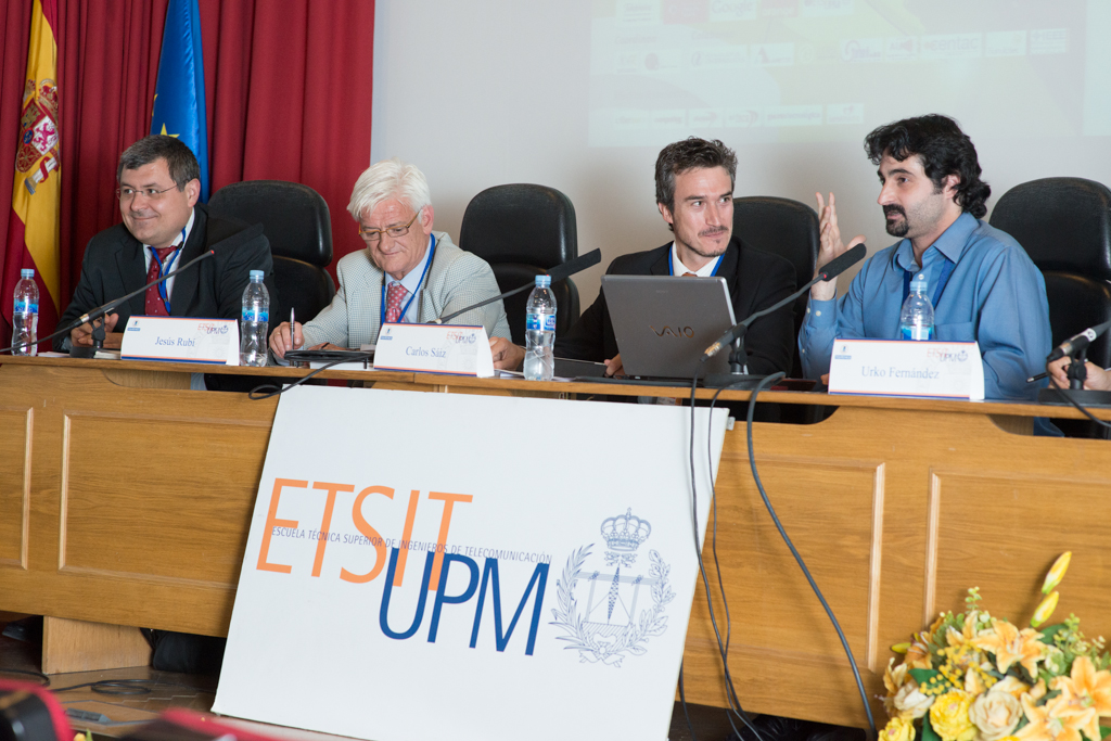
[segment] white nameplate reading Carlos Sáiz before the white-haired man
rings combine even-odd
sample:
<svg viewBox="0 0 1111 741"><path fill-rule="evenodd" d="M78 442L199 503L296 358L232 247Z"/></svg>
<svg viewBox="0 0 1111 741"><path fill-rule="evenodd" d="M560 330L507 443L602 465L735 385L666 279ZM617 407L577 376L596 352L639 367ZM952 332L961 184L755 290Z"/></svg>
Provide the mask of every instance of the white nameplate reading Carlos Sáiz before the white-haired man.
<svg viewBox="0 0 1111 741"><path fill-rule="evenodd" d="M374 347L374 370L490 378L493 357L483 327L382 324Z"/></svg>

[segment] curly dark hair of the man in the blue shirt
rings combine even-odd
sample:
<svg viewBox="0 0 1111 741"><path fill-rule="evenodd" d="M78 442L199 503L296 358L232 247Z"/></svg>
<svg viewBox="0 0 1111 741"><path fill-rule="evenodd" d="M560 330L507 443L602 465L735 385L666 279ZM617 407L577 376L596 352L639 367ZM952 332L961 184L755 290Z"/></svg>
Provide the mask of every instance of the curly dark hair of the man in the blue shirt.
<svg viewBox="0 0 1111 741"><path fill-rule="evenodd" d="M988 212L984 202L991 188L980 179L975 147L948 116L931 113L881 126L864 138L864 151L872 164L879 164L884 153L900 162L918 154L934 188L941 190L945 178L955 174L960 178L953 197L957 204L977 219Z"/></svg>

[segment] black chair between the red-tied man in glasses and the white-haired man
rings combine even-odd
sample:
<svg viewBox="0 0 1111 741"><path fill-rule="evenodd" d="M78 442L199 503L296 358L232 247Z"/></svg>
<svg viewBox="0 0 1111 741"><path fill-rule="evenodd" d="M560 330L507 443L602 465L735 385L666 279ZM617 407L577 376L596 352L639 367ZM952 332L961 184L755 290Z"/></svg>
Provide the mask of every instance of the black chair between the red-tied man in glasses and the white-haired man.
<svg viewBox="0 0 1111 741"><path fill-rule="evenodd" d="M233 182L212 194L209 213L262 224L282 306L293 308L298 321L331 302L336 283L324 268L332 261L332 223L320 193L283 180Z"/></svg>

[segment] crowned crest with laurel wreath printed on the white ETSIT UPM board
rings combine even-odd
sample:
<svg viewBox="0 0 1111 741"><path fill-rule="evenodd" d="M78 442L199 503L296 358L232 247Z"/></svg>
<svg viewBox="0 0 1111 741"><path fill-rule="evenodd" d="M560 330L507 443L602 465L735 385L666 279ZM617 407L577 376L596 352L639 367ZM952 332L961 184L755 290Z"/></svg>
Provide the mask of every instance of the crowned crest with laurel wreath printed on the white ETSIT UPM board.
<svg viewBox="0 0 1111 741"><path fill-rule="evenodd" d="M648 572L635 573L637 550L652 534L648 520L629 509L603 520L601 534L605 551L600 557L592 558L591 543L568 559L556 582L551 624L563 629L558 640L577 650L580 661L620 668L627 655L645 653L649 639L667 631L663 612L675 593L668 582L671 567L657 551L648 552Z"/></svg>

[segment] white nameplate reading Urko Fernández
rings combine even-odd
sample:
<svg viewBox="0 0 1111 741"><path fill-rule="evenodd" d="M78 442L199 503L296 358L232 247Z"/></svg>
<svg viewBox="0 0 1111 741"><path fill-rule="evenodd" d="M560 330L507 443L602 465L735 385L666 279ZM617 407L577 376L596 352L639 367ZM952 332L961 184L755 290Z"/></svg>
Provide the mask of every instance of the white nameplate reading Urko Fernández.
<svg viewBox="0 0 1111 741"><path fill-rule="evenodd" d="M834 340L830 393L983 399L977 342Z"/></svg>

